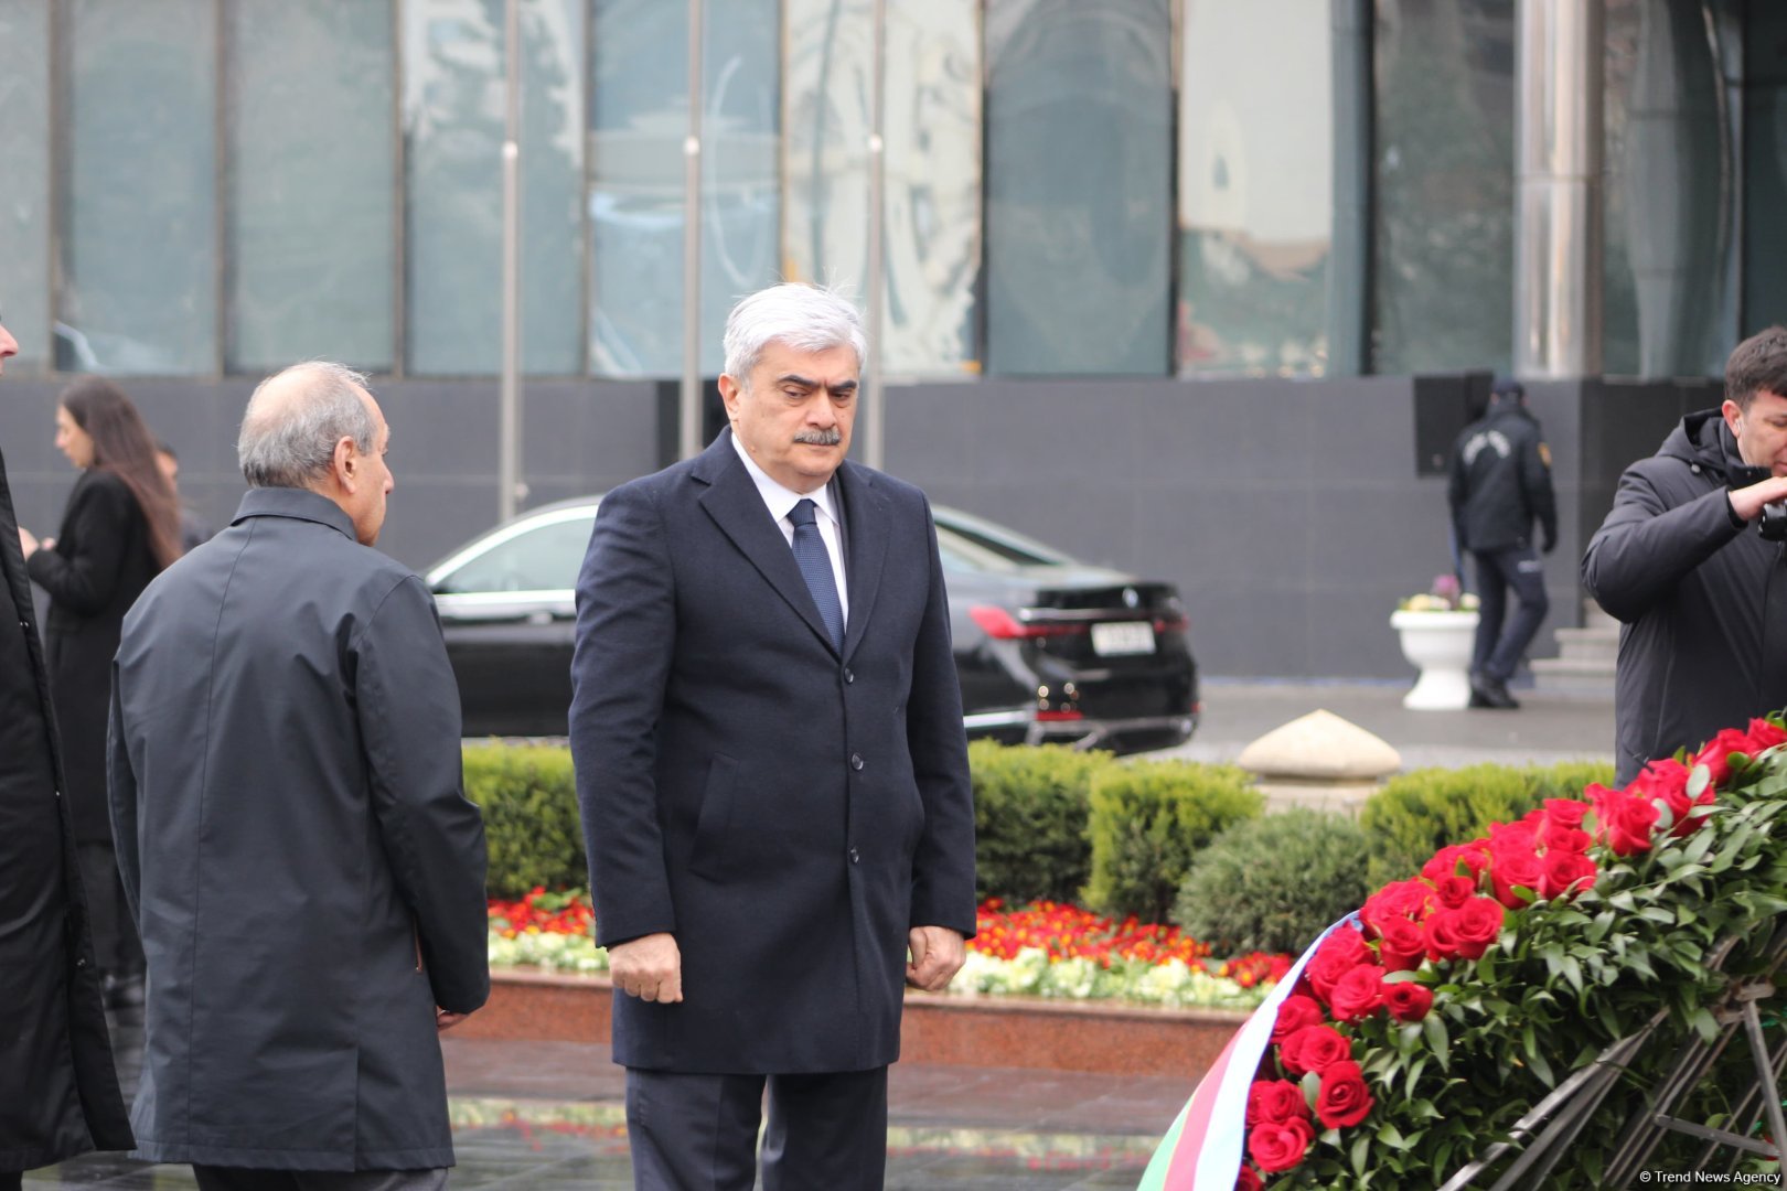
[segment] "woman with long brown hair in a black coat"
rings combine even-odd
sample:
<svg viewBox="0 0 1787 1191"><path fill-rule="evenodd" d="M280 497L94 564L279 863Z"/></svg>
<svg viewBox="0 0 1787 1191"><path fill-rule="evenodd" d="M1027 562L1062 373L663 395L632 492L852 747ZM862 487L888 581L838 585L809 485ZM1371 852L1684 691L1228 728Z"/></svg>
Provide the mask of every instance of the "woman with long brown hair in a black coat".
<svg viewBox="0 0 1787 1191"><path fill-rule="evenodd" d="M63 532L38 543L20 534L25 570L50 595L45 652L50 698L63 736L68 805L80 879L109 1000L141 1004L143 946L136 937L105 796L105 725L111 661L123 614L180 555L180 512L155 462L155 439L114 384L89 377L55 407L55 445L80 468Z"/></svg>

